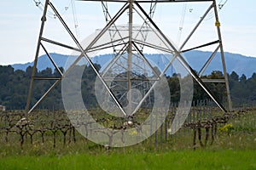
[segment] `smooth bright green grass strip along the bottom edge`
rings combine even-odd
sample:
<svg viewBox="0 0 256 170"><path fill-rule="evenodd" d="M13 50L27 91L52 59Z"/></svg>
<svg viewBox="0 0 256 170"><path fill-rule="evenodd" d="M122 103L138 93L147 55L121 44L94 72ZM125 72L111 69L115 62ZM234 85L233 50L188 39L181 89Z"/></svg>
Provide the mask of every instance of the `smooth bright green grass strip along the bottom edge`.
<svg viewBox="0 0 256 170"><path fill-rule="evenodd" d="M0 169L256 169L255 150L8 156Z"/></svg>

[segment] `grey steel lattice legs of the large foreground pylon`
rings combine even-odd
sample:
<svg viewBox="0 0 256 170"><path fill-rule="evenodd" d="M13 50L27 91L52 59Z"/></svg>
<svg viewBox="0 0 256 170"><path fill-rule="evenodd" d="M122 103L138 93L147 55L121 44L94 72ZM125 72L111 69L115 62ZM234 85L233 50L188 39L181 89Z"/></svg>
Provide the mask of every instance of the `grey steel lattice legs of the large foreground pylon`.
<svg viewBox="0 0 256 170"><path fill-rule="evenodd" d="M80 0L80 1L86 1L86 0ZM96 2L96 1L94 1ZM38 37L38 46L37 51L34 59L34 65L32 69L32 79L30 83L29 88L29 94L26 102L26 110L28 111L28 114L35 110L35 108L44 100L44 98L52 91L56 85L61 82L62 78L65 77L69 71L73 69L73 66L78 64L79 60L84 58L87 60L93 71L96 72L96 76L99 78L100 82L104 85L104 88L108 91L108 94L113 99L115 105L118 106L119 110L123 113L124 116L130 116L132 114L135 114L138 109L143 105L143 102L150 96L150 93L152 93L154 87L158 83L161 77L165 76L166 71L168 68L172 65L172 62L174 59L177 59L181 65L189 72L189 74L195 79L195 82L197 82L201 88L205 90L205 92L211 97L211 99L218 105L218 107L224 111L232 111L231 106L231 99L230 99L230 88L229 88L229 82L226 72L226 66L224 61L224 49L221 39L221 32L219 28L219 21L218 21L218 10L215 0L195 0L195 1L184 1L184 0L158 0L158 1L143 1L143 0L130 0L130 1L97 1L102 3L103 13L106 18L106 26L103 27L101 31L98 32L97 36L90 42L90 44L87 47L82 47L78 39L73 35L73 32L69 29L67 26L65 20L62 19L61 14L56 10L53 3L50 2L50 0L45 0L44 4L44 13L41 21L41 28L39 32ZM113 3L124 3L124 5L119 8L119 11L111 16L108 12L108 2ZM185 39L185 41L182 43L182 45L179 48L176 48L172 42L166 37L166 35L163 33L163 31L160 30L160 28L155 24L153 18L154 15L154 9L157 3L189 3L189 2L212 2L207 8L207 11L201 19L198 21L198 23L195 25L195 27L190 32L189 36ZM150 10L147 13L143 7L140 5L140 3L151 3ZM51 8L52 11L54 11L55 16L58 20L61 21L62 26L66 29L67 33L70 37L72 37L73 42L77 45L77 47L71 47L67 44L63 44L61 42L55 42L55 40L50 40L46 37L43 37L43 31L44 31L44 25L46 21L47 11L48 8ZM197 46L195 48L189 48L189 49L183 49L187 42L189 42L190 37L195 33L197 28L201 25L202 20L204 20L209 13L209 11L213 9L215 14L215 26L218 31L218 39L214 40L212 42L207 42L205 44L202 44L201 46ZM125 14L125 11L128 11L129 14L129 26L121 27L116 26L115 22L119 19L119 17L123 14ZM142 26L135 26L133 23L133 15L136 13L139 17L141 17L141 20L143 20ZM127 34L123 34L122 31L126 31ZM153 32L154 35L160 39L160 42L162 42L163 46L158 46L157 44L154 44L154 42L147 42L148 38L148 32ZM136 34L134 33L136 32ZM109 34L110 41L109 42L102 42L101 38ZM79 57L73 61L73 64L70 65L70 67L67 69L67 71L61 72L61 70L58 68L58 66L55 64L54 59L50 56L47 49L44 47L44 42L49 42L58 46L61 46L63 48L69 48L73 49L75 51L78 51L80 53ZM207 59L207 62L203 67L201 68L201 71L199 73L196 73L193 68L189 65L189 63L183 58L183 52L187 52L189 50L193 50L196 48L202 48L207 47L212 44L218 44L218 47L213 51L212 55ZM60 77L35 77L36 68L38 65L38 54L40 48L44 49L45 54L49 57L49 60L55 65L56 71L60 73ZM88 56L88 53L93 51L102 50L104 48L113 48L113 59L108 63L105 68L103 68L102 71L97 71L96 66L92 63L90 57ZM154 48L157 50L162 51L163 53L168 54L168 63L165 65L165 68L162 71L158 71L154 68L154 65L152 65L148 59L143 54L144 48ZM224 105L221 104L221 102L218 101L218 99L212 94L211 90L207 88L205 84L205 80L201 79L201 76L203 75L204 71L206 71L207 66L211 63L212 59L214 58L215 54L217 54L218 50L221 54L221 60L224 70L224 80L206 80L207 82L224 82L226 86L227 91L227 100L228 100L228 110L224 107ZM134 68L137 69L139 72L137 74L136 71L133 71ZM145 70L145 68L147 68ZM148 76L147 79L143 79L142 72L146 74L151 74L151 76ZM115 77L112 77L113 72L116 72ZM119 75L118 77L117 74ZM51 85L51 87L44 93L44 95L38 99L38 102L35 105L31 105L31 98L32 98L32 88L33 88L33 82L36 79L41 80L55 80L55 82ZM137 79L137 82L135 82L135 79ZM108 82L108 80L111 80L112 82ZM123 85L122 82L125 82L125 85ZM150 82L150 83L148 83ZM131 90L132 88L139 87L143 89L143 99L140 100L140 102L137 102L137 106L133 110L124 110L124 103L122 103L122 99L125 95L127 95L127 92ZM147 88L145 88L147 87ZM119 89L119 90L117 90ZM131 95L128 95L129 101L131 101Z"/></svg>

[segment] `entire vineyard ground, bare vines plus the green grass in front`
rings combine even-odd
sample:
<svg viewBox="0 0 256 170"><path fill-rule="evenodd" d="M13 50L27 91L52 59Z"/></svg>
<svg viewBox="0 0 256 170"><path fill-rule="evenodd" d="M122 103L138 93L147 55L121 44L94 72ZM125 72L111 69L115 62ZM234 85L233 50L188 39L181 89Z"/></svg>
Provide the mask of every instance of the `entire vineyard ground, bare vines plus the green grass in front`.
<svg viewBox="0 0 256 170"><path fill-rule="evenodd" d="M90 134L95 126L72 124L65 111L38 110L29 116L25 111L2 111L0 169L256 168L254 106L224 114L210 101L193 102L183 127L171 135L170 122L176 110L177 105L172 104L166 117L159 115L164 123L155 133L156 124L151 122L152 135L148 139L124 148L95 144L84 138L75 127L84 126ZM129 126L100 109L91 109L90 115L104 127L126 131L139 127L150 117L150 110L140 110ZM110 143L112 135L108 137Z"/></svg>

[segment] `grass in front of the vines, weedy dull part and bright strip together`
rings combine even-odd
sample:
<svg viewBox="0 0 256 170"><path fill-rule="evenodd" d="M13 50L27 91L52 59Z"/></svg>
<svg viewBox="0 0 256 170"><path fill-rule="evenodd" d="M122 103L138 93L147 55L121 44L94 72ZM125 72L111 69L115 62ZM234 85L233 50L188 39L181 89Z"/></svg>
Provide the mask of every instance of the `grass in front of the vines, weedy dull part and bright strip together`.
<svg viewBox="0 0 256 170"><path fill-rule="evenodd" d="M152 140L125 148L107 150L86 139L63 144L19 139L0 140L0 169L256 169L256 114L249 111L218 127L214 143L193 149L192 133L183 129L158 144ZM222 125L223 126L223 125Z"/></svg>

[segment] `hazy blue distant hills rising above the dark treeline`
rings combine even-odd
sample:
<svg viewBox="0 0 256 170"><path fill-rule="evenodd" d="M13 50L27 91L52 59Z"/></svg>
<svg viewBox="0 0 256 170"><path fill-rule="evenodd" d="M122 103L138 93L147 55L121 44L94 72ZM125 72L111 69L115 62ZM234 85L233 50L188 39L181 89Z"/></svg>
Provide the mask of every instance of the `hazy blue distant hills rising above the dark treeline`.
<svg viewBox="0 0 256 170"><path fill-rule="evenodd" d="M203 51L189 51L184 54L184 57L189 61L189 64L192 66L195 71L200 71L202 65L207 61L211 52L203 52ZM159 62L157 55L159 54L145 54L148 59L154 61L154 63ZM53 59L55 60L56 65L60 67L64 67L68 55L64 54L51 54ZM231 53L224 53L225 62L228 73L232 71L236 71L236 73L241 76L242 74L246 75L246 77L252 77L253 72L256 72L256 58L247 57L241 54L231 54ZM94 63L99 65L105 65L108 63L108 60L112 58L111 54L104 54L104 55L97 55L91 60ZM33 65L33 62L28 62L26 64L15 64L12 65L15 70L26 70L26 67L29 65ZM49 61L47 55L42 55L38 58L38 71L42 71L45 68L50 67L52 70L55 69L54 65L52 65ZM212 71L222 71L222 65L220 60L220 54L218 53L214 59L212 59L211 64L208 66L207 71L205 74L211 74Z"/></svg>

